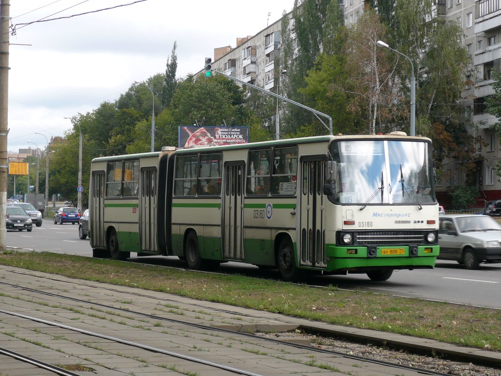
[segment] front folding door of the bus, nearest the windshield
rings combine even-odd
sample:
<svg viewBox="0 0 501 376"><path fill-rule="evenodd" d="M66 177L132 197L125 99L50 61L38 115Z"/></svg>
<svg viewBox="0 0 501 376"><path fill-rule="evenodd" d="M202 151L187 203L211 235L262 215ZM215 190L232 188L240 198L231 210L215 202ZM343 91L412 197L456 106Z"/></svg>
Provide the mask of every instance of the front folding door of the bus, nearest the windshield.
<svg viewBox="0 0 501 376"><path fill-rule="evenodd" d="M300 265L326 267L323 215L324 160L301 162Z"/></svg>

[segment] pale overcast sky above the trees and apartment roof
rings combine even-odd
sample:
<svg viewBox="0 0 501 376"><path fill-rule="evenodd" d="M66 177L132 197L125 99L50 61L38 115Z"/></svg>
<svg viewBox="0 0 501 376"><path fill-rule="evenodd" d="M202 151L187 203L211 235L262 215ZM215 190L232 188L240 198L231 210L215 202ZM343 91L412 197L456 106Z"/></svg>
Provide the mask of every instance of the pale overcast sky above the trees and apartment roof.
<svg viewBox="0 0 501 376"><path fill-rule="evenodd" d="M294 0L10 0L9 151L71 128L65 117L114 101L134 81L165 72L177 41L177 77L198 72L214 48L235 47L290 12ZM78 5L79 3L82 3ZM269 16L270 14L270 16ZM52 16L51 16L52 15Z"/></svg>

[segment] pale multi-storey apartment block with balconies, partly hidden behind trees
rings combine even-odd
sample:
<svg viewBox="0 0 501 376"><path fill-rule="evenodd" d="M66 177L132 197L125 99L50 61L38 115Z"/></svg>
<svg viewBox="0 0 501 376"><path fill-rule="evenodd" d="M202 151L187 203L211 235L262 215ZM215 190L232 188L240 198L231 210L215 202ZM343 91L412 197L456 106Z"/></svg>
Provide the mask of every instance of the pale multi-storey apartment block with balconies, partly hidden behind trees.
<svg viewBox="0 0 501 376"><path fill-rule="evenodd" d="M398 1L398 0L396 0ZM370 9L369 0L339 0L344 9L345 24L356 23ZM293 36L292 13L289 33ZM501 69L501 0L435 0L433 16L457 22L461 26L463 45L471 54L475 77L465 77L467 84L463 100L458 105L464 107L464 116L472 119L474 127L468 131L480 136L487 146L478 145L479 160L476 170L468 176L460 172L460 166L447 164L446 177L438 182L437 194L441 203L450 205L452 192L457 185L476 184L480 196L477 206L492 199L501 199L501 176L495 166L501 157L499 139L489 126L497 121L485 112L485 98L494 93L493 72ZM249 84L259 85L275 91L279 86L274 76L274 59L280 55L281 20L270 25L255 36L237 38L236 47L214 49L212 67Z"/></svg>

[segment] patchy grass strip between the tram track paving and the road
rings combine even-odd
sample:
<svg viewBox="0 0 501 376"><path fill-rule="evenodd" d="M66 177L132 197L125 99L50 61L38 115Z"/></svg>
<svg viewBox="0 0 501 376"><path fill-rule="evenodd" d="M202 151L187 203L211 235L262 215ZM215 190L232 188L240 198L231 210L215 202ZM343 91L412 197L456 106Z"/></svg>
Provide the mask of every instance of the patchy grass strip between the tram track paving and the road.
<svg viewBox="0 0 501 376"><path fill-rule="evenodd" d="M501 351L501 310L497 309L58 253L4 251L0 264Z"/></svg>

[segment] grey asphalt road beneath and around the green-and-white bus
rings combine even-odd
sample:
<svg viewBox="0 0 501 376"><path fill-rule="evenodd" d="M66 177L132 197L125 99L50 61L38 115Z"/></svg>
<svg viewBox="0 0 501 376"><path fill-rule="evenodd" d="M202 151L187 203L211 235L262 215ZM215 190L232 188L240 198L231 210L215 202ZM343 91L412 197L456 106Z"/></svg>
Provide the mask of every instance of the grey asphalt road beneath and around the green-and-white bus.
<svg viewBox="0 0 501 376"><path fill-rule="evenodd" d="M54 225L52 219L46 218L42 227L35 227L31 233L9 231L7 246L92 257L89 240L78 237L78 225ZM177 257L132 257L131 261L186 267ZM239 263L223 264L221 271L279 278L278 272ZM396 271L386 282L373 282L365 274L321 276L311 282L501 309L501 264L480 264L479 270L466 270L456 262L439 260L433 270Z"/></svg>

